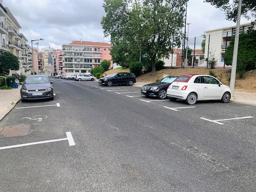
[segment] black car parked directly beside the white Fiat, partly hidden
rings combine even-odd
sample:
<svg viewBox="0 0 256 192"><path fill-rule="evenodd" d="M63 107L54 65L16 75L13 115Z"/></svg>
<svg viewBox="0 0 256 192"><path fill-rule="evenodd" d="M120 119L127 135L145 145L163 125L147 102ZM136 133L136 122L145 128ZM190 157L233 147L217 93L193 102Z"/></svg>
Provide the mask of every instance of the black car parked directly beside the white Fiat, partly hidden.
<svg viewBox="0 0 256 192"><path fill-rule="evenodd" d="M163 78L161 81L153 84L145 84L141 88L141 93L145 96L157 96L159 99L166 98L166 91L169 85L178 77L179 75L170 75Z"/></svg>

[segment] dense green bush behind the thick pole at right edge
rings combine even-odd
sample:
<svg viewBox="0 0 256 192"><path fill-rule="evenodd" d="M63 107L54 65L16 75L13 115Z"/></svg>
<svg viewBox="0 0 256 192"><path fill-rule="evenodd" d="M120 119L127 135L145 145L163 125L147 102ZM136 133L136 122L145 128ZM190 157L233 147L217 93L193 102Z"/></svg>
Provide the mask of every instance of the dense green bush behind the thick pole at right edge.
<svg viewBox="0 0 256 192"><path fill-rule="evenodd" d="M238 56L237 56L237 73L239 77L244 77L244 73L256 69L256 31L241 34L239 36ZM229 47L224 54L226 65L232 65L234 49L234 37L232 37Z"/></svg>

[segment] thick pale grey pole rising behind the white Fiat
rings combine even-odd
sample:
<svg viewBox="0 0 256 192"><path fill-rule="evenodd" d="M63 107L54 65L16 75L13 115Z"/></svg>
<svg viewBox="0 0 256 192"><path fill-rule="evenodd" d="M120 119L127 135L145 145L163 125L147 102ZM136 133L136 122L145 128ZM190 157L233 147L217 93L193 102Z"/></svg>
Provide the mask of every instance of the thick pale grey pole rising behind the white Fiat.
<svg viewBox="0 0 256 192"><path fill-rule="evenodd" d="M235 29L235 42L234 42L234 50L233 50L231 78L230 78L231 96L234 96L234 91L235 91L235 75L236 75L236 64L237 64L237 54L238 54L241 9L242 9L242 0L239 0L236 29Z"/></svg>

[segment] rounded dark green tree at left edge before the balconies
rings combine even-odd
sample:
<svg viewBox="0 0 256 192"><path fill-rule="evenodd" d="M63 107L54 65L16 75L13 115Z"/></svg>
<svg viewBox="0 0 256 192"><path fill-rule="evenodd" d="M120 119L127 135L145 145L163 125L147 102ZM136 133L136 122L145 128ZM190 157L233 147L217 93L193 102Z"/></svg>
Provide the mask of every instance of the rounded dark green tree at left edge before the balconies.
<svg viewBox="0 0 256 192"><path fill-rule="evenodd" d="M3 52L0 55L0 73L10 70L19 70L20 64L18 58L9 52Z"/></svg>

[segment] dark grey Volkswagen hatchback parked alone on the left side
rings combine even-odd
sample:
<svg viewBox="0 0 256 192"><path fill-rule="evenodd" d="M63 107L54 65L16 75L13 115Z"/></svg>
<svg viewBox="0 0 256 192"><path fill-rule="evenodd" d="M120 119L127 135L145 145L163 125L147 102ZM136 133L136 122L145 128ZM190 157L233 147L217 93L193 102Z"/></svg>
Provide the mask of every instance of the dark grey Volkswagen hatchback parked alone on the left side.
<svg viewBox="0 0 256 192"><path fill-rule="evenodd" d="M50 99L53 100L52 82L46 75L28 75L21 87L21 101Z"/></svg>

